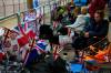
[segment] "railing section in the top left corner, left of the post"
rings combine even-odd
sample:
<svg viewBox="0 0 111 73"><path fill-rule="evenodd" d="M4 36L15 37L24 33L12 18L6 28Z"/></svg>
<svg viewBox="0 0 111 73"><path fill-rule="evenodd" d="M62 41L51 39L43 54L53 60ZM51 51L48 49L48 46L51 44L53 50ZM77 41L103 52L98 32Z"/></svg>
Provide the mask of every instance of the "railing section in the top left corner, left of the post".
<svg viewBox="0 0 111 73"><path fill-rule="evenodd" d="M27 10L27 0L0 0L0 18Z"/></svg>

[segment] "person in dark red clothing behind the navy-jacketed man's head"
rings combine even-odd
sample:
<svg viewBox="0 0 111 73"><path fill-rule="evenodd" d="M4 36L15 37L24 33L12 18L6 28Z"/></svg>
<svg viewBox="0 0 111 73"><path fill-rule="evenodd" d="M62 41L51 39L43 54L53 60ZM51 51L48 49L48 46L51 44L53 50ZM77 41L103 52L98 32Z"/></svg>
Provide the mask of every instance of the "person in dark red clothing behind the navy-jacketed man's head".
<svg viewBox="0 0 111 73"><path fill-rule="evenodd" d="M91 18L94 17L97 10L104 10L107 0L91 0L89 4L89 13Z"/></svg>

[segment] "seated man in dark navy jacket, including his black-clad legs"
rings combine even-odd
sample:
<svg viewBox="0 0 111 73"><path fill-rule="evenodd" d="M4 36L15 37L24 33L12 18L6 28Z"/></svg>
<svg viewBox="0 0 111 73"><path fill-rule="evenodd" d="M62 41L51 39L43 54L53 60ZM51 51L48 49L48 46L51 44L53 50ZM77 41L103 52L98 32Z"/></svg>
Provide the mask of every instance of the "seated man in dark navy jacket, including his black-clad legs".
<svg viewBox="0 0 111 73"><path fill-rule="evenodd" d="M84 27L83 35L73 40L72 46L75 48L75 50L81 51L107 36L109 22L104 20L103 17L103 11L95 11L94 19L91 19L89 25ZM78 51L75 51L75 53L79 55Z"/></svg>

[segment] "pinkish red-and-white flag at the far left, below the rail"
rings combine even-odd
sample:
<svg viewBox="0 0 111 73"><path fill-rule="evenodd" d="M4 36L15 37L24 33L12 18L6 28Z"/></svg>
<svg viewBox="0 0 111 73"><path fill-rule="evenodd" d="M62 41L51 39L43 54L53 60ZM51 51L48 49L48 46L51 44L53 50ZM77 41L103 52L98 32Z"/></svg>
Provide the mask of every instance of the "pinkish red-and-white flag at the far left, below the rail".
<svg viewBox="0 0 111 73"><path fill-rule="evenodd" d="M14 52L19 50L19 45L17 42L18 33L7 28L3 28L3 30L4 30L4 33L2 35L3 51L9 51L9 52L12 52L11 54L13 54Z"/></svg>

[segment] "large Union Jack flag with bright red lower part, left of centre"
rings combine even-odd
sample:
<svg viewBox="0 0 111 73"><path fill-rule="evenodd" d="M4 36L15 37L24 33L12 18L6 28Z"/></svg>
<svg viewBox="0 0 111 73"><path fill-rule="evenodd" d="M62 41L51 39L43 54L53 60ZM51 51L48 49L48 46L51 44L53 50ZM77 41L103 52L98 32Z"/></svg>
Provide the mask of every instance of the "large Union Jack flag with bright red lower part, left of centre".
<svg viewBox="0 0 111 73"><path fill-rule="evenodd" d="M18 32L18 43L21 46L29 43L29 41L33 38L36 38L36 33L33 32L32 28L28 28L28 23L19 24L13 29L13 31Z"/></svg>

